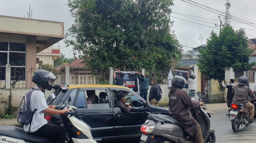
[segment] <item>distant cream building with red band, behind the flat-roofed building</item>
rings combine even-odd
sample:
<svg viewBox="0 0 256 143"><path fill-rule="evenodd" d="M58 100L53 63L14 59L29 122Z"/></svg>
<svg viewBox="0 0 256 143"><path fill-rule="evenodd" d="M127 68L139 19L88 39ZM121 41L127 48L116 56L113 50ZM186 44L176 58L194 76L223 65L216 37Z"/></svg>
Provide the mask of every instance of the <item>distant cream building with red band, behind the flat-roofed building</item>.
<svg viewBox="0 0 256 143"><path fill-rule="evenodd" d="M36 54L36 67L41 64L54 65L54 60L60 57L60 46L50 46Z"/></svg>

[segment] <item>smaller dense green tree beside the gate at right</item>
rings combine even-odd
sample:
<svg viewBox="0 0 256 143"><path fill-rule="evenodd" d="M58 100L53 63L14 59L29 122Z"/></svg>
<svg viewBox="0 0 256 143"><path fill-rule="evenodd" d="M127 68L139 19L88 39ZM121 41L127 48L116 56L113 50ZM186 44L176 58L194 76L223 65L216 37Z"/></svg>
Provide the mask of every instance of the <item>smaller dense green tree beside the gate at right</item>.
<svg viewBox="0 0 256 143"><path fill-rule="evenodd" d="M234 71L245 71L252 66L249 59L253 50L248 49L248 38L242 28L234 31L232 26L226 25L221 29L220 35L211 32L206 49L199 52L202 59L198 60L198 66L208 79L225 79L225 67L232 66Z"/></svg>

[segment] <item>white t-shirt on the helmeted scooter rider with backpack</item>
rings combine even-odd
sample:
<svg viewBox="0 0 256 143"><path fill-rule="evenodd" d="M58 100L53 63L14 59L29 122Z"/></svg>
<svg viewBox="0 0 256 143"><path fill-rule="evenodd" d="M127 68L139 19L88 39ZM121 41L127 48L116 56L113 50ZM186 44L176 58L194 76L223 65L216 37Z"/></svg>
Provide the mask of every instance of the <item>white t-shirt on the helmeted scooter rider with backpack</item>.
<svg viewBox="0 0 256 143"><path fill-rule="evenodd" d="M35 87L35 88L38 88L38 87ZM35 90L32 92L31 98L30 98L30 105L31 105L31 111L34 111L35 109L37 109L31 123L30 133L32 133L37 131L43 125L47 124L47 120L44 118L44 113L42 111L49 107L47 106L44 93L40 90ZM28 132L29 126L30 124L24 125L24 131Z"/></svg>

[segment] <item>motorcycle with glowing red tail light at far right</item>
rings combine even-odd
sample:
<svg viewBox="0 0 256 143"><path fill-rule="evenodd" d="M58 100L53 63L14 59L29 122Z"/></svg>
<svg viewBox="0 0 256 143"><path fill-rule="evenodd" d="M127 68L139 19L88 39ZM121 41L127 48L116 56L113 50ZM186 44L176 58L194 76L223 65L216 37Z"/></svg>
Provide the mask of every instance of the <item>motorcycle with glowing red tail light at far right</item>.
<svg viewBox="0 0 256 143"><path fill-rule="evenodd" d="M232 130L237 132L240 125L250 125L252 122L249 120L249 109L244 107L243 104L233 101L231 104L230 120L232 121Z"/></svg>

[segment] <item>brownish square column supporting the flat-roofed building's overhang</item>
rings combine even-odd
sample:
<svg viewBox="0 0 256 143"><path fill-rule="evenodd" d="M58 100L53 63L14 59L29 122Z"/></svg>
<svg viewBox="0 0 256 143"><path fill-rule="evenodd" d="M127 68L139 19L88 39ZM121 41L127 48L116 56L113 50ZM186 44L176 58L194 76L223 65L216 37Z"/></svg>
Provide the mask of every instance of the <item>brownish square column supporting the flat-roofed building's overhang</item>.
<svg viewBox="0 0 256 143"><path fill-rule="evenodd" d="M32 82L34 71L36 70L36 36L26 36L26 87L35 87L35 83Z"/></svg>

